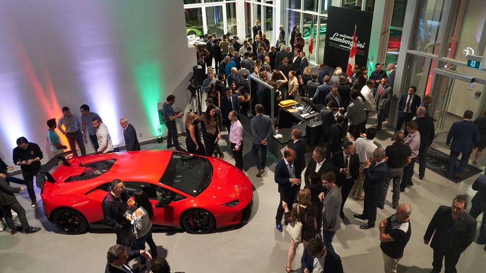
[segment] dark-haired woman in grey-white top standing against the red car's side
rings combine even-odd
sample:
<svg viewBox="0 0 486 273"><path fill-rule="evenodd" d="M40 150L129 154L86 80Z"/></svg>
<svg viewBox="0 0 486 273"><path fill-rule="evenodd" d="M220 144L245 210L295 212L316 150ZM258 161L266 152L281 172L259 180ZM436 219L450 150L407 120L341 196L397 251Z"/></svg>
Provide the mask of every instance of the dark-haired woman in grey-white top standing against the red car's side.
<svg viewBox="0 0 486 273"><path fill-rule="evenodd" d="M148 200L147 194L140 190L133 193L133 199L135 200L135 211L132 215L127 215L127 220L133 222L135 238L137 238L135 241L137 249L145 250L145 242L147 242L152 257L156 257L157 247L152 239L152 203ZM141 256L138 271L142 271L146 268L145 263L145 257Z"/></svg>

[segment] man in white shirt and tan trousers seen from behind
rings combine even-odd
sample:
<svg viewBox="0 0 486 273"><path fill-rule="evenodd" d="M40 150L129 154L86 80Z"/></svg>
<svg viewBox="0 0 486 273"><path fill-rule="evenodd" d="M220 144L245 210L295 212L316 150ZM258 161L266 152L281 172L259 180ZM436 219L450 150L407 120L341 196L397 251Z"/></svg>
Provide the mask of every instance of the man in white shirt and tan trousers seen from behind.
<svg viewBox="0 0 486 273"><path fill-rule="evenodd" d="M372 160L371 155L373 151L378 148L373 142L376 136L375 128L368 128L366 130L366 138L359 138L354 142L354 148L356 149L356 154L359 156L359 168L365 168L366 160ZM363 194L363 183L365 182L365 174L359 172L358 178L354 181L354 186L351 189L351 194L354 195L355 200L365 200L365 195Z"/></svg>

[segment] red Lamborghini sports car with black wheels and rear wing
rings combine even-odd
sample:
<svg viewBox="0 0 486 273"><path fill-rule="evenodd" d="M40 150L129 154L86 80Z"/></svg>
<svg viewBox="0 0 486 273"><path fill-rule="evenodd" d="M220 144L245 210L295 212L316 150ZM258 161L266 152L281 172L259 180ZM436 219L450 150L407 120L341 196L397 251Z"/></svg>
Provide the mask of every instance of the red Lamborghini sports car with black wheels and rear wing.
<svg viewBox="0 0 486 273"><path fill-rule="evenodd" d="M68 234L105 225L101 202L113 179L132 196L147 193L154 226L203 234L251 213L253 188L239 169L219 159L167 150L52 158L37 174L47 218ZM59 160L63 164L49 172ZM109 227L108 225L105 225Z"/></svg>

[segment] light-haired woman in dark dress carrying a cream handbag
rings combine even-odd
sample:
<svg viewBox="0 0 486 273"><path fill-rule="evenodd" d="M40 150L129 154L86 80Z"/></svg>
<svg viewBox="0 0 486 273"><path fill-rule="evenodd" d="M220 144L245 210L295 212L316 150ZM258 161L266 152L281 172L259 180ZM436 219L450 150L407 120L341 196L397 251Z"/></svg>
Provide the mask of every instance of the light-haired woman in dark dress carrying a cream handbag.
<svg viewBox="0 0 486 273"><path fill-rule="evenodd" d="M311 202L311 194L309 189L302 189L297 193L297 201L299 205L294 207L292 211L289 210L289 206L285 201L282 201L282 207L285 209L284 217L291 223L299 220L302 223L302 242L304 247L307 245L310 239L315 238L315 229L317 228L317 207ZM289 260L287 263L286 271L292 271L292 262L295 258L295 252L300 243L290 243Z"/></svg>

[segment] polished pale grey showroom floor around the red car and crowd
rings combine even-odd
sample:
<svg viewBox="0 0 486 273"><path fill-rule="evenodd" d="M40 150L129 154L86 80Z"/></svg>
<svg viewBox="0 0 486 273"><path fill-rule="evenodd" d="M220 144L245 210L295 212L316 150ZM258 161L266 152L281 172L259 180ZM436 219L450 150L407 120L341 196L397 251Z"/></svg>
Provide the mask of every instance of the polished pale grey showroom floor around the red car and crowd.
<svg viewBox="0 0 486 273"><path fill-rule="evenodd" d="M372 122L372 120L370 121ZM379 146L391 144L392 130L383 129L377 135ZM182 138L181 138L182 140ZM183 141L181 141L183 143ZM225 151L225 160L234 163L224 141L220 144ZM148 144L142 149L165 149L166 143ZM435 148L448 152L440 146ZM290 246L288 234L275 229L275 210L279 200L277 185L272 170L275 162L267 160L263 177L255 177L251 155L251 139L245 135L245 173L250 177L254 191L254 206L247 223L235 228L218 230L208 235L190 235L179 230L161 229L155 231L154 241L158 253L167 257L172 271L184 272L285 272L287 253ZM310 158L311 151L307 151ZM451 205L457 194L467 194L471 199L474 191L471 184L476 177L454 184L427 170L424 180L419 180L417 171L415 186L400 196L400 203L413 207L411 216L412 238L404 256L399 262L398 272L421 273L431 270L432 249L423 243L427 225L439 205ZM13 185L16 186L16 185ZM390 189L391 190L391 189ZM39 189L36 194L39 196ZM115 235L108 230L92 230L82 235L63 234L44 216L39 199L37 208L30 208L26 192L17 195L27 211L32 226L42 231L26 235L0 233L0 272L102 272L106 264L106 251L115 243ZM378 228L360 230L362 221L354 219L353 213L362 211L363 202L348 198L344 212L346 218L342 229L334 238L334 248L341 256L345 272L383 272L383 258L380 250ZM378 210L377 221L393 213L391 193L387 195L385 209ZM461 255L458 272L484 272L486 252L484 246L472 243ZM292 268L300 272L300 258L303 246L297 249ZM137 265L137 261L131 264ZM481 269L482 268L482 269Z"/></svg>

